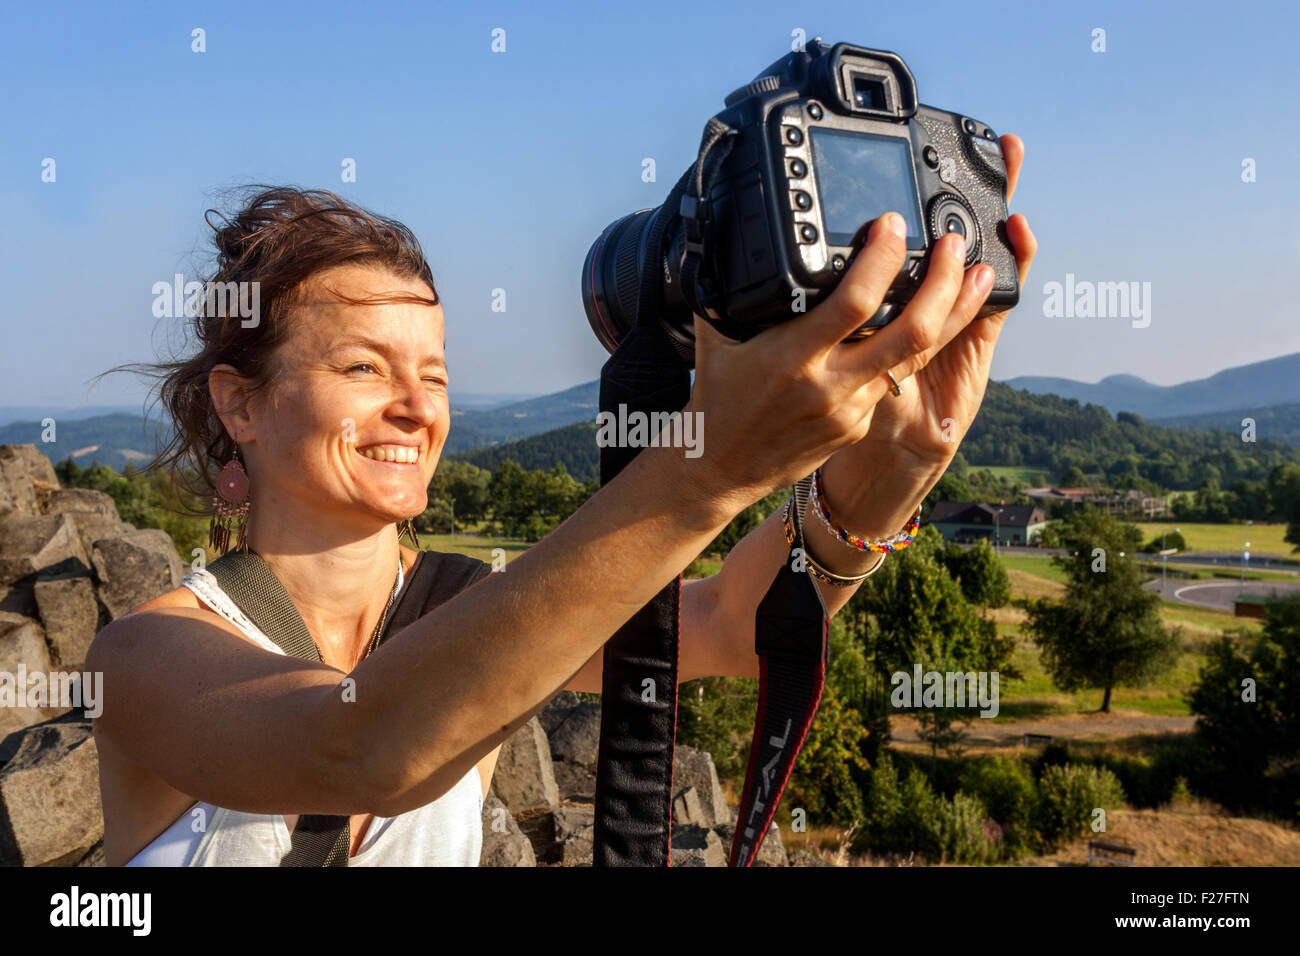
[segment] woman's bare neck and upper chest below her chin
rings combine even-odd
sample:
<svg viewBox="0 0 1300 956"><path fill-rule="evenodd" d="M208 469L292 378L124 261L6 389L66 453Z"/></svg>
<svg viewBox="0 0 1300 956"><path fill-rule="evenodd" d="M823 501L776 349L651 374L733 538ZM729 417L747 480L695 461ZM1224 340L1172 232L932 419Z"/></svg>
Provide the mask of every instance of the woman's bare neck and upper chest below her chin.
<svg viewBox="0 0 1300 956"><path fill-rule="evenodd" d="M387 606L402 561L396 525L365 529L304 514L289 501L259 501L248 514L248 548L289 592L325 663L344 672L359 663Z"/></svg>

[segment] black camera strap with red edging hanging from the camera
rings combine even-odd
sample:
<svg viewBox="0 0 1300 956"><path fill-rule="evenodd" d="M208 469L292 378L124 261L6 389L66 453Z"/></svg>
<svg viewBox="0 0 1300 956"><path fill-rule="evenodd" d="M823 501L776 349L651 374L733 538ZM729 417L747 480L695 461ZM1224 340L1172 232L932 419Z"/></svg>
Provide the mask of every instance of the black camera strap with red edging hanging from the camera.
<svg viewBox="0 0 1300 956"><path fill-rule="evenodd" d="M656 258L671 213L681 216L686 239L682 293L697 315L706 315L711 299L711 290L699 287L707 196L734 144L733 134L734 129L716 117L708 121L699 159L668 195L646 243L641 274L658 276ZM602 412L675 412L690 398L685 358L658 321L659 295L658 281L641 284L637 321L601 369ZM601 484L608 484L638 451L602 447ZM732 842L732 866L754 861L826 683L828 617L801 550L810 488L810 479L796 485L794 545L755 614L758 714ZM593 856L597 866L671 862L680 630L679 575L604 645Z"/></svg>

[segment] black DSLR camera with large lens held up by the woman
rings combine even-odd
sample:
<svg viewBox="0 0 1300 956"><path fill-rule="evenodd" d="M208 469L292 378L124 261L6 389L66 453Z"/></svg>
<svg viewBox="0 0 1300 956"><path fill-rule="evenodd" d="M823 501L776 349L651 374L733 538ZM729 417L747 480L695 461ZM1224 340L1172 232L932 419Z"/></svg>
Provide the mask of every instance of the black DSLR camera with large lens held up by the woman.
<svg viewBox="0 0 1300 956"><path fill-rule="evenodd" d="M900 56L814 39L725 99L663 206L601 233L582 265L582 306L611 352L638 308L654 308L693 367L696 313L734 339L796 317L835 289L862 226L893 209L907 224L907 258L852 337L904 310L945 233L966 237L967 268L993 267L980 315L1000 312L1019 299L1006 186L993 130L918 104Z"/></svg>

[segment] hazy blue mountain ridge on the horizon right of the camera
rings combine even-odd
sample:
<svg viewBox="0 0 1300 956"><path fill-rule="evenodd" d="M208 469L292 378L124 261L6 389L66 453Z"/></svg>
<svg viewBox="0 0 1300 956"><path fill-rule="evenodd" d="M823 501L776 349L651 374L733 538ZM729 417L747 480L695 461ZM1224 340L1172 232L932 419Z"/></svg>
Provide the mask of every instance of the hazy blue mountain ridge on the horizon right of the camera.
<svg viewBox="0 0 1300 956"><path fill-rule="evenodd" d="M1006 385L1035 395L1061 395L1082 405L1100 405L1112 414L1131 411L1144 419L1171 419L1300 405L1300 352L1249 365L1226 368L1209 378L1180 385L1152 385L1135 375L1112 375L1098 382L1018 376ZM1245 415L1249 414L1244 412ZM1240 418L1238 418L1240 427ZM1173 423L1169 423L1173 424Z"/></svg>

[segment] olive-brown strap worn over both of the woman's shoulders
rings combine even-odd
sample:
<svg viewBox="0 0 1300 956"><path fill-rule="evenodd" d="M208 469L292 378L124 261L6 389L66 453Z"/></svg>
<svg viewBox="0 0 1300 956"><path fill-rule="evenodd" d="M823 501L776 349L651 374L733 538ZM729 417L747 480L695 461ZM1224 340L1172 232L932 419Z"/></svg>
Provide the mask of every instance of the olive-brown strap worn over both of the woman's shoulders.
<svg viewBox="0 0 1300 956"><path fill-rule="evenodd" d="M484 562L464 554L421 551L389 614L380 643L455 597L490 570ZM285 654L303 661L321 659L320 648L307 631L292 598L255 551L230 551L208 564L208 571L239 610ZM281 866L347 866L352 845L350 821L344 816L304 813L298 818L291 842L290 851L280 861Z"/></svg>

